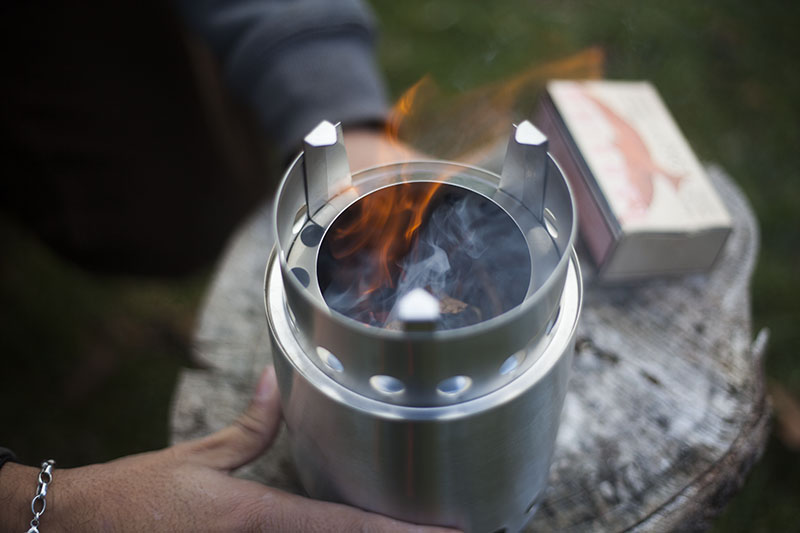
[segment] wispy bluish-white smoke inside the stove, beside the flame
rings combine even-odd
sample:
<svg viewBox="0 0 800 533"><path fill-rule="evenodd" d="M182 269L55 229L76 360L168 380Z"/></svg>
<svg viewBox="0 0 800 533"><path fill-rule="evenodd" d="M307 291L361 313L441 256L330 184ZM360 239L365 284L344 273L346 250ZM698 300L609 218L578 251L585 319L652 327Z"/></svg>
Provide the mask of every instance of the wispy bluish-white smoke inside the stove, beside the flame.
<svg viewBox="0 0 800 533"><path fill-rule="evenodd" d="M364 250L346 266L333 263L348 272L333 276L337 281L323 297L332 309L379 327L397 323L397 303L414 289L457 301L465 309L443 313L440 329L486 320L522 301L531 272L525 239L511 218L482 196L454 187L446 188L410 251L395 265L396 287L365 294L364 280L370 276L364 273L378 268L374 259Z"/></svg>

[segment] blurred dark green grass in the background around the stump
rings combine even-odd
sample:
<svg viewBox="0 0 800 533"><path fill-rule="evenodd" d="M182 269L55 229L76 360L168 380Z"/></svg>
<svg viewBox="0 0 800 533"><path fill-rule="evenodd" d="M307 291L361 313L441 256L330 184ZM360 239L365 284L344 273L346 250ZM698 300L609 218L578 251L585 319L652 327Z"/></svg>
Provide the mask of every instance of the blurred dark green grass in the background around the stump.
<svg viewBox="0 0 800 533"><path fill-rule="evenodd" d="M599 47L609 78L655 83L695 151L746 191L762 229L755 327L770 379L800 398L800 4L374 0L393 96L445 97ZM28 463L98 462L167 443L168 405L207 274L87 274L0 217L0 444ZM10 406L10 407L9 407ZM773 437L715 531L800 531L800 453Z"/></svg>

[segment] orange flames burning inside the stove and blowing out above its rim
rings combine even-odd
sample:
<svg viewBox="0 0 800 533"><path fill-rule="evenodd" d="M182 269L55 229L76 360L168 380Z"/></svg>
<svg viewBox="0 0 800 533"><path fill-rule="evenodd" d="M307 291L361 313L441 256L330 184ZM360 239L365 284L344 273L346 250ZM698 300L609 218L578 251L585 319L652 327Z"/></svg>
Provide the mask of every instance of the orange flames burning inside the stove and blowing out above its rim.
<svg viewBox="0 0 800 533"><path fill-rule="evenodd" d="M504 82L479 87L443 101L429 76L397 101L386 124L386 137L399 139L434 156L479 162L492 146L504 142L514 112L524 109L550 78L598 78L603 52L590 48L560 61L537 65ZM402 134L402 135L401 135ZM487 148L488 147L488 148ZM415 186L392 186L361 199L357 212L333 230L332 255L347 258L368 251L378 268L363 272L362 294L395 286L398 263L409 253L437 190L448 176Z"/></svg>

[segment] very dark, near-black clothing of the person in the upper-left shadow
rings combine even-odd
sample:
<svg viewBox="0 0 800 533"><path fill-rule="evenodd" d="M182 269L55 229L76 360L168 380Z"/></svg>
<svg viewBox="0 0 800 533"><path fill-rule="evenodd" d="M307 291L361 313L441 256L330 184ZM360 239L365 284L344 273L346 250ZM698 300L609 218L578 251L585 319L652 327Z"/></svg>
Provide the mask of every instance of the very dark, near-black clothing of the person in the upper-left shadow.
<svg viewBox="0 0 800 533"><path fill-rule="evenodd" d="M73 261L191 271L274 184L169 2L11 2L0 42L0 208Z"/></svg>

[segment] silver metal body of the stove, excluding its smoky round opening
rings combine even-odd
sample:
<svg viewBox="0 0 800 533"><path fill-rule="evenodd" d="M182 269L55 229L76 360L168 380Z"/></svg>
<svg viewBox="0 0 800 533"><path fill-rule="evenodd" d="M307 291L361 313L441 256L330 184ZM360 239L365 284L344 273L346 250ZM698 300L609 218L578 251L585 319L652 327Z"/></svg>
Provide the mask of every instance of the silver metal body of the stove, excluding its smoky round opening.
<svg viewBox="0 0 800 533"><path fill-rule="evenodd" d="M327 230L366 195L425 181L479 194L513 220L531 261L522 303L449 330L332 311L317 272ZM575 207L546 139L517 127L501 175L442 161L351 174L341 130L323 123L287 171L274 217L265 305L306 491L414 523L520 530L547 483L582 297Z"/></svg>

